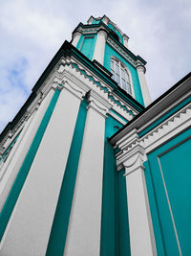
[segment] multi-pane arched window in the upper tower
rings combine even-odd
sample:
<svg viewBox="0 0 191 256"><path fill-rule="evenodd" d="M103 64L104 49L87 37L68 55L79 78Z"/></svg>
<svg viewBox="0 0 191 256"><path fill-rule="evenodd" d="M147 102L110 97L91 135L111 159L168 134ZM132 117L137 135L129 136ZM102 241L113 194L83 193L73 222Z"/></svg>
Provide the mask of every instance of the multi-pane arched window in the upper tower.
<svg viewBox="0 0 191 256"><path fill-rule="evenodd" d="M125 65L116 58L111 58L111 72L113 74L112 78L117 81L118 85L132 94L130 77Z"/></svg>

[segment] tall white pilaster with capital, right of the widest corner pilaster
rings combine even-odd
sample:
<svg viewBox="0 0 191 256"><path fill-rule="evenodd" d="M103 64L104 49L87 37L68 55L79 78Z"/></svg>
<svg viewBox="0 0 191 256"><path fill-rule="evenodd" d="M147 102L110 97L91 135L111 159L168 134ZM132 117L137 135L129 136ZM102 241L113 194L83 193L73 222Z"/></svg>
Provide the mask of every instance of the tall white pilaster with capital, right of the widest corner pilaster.
<svg viewBox="0 0 191 256"><path fill-rule="evenodd" d="M90 93L65 256L99 255L104 131L109 107Z"/></svg>

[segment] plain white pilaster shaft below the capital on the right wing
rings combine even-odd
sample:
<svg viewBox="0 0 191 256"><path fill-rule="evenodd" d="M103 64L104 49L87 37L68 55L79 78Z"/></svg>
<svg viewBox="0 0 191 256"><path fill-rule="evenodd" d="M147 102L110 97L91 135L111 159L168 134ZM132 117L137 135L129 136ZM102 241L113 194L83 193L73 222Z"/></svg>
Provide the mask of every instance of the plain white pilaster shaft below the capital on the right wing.
<svg viewBox="0 0 191 256"><path fill-rule="evenodd" d="M157 255L143 167L126 175L131 255ZM128 173L128 168L126 168Z"/></svg>

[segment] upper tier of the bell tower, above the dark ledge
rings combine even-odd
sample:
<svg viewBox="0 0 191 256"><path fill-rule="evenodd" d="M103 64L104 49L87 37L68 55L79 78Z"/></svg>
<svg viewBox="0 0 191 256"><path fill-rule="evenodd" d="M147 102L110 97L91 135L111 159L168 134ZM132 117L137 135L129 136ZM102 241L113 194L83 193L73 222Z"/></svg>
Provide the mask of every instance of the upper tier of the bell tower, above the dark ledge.
<svg viewBox="0 0 191 256"><path fill-rule="evenodd" d="M121 32L106 15L91 16L88 24L80 23L73 33L73 45L87 58L96 60L117 84L141 105L150 105L151 98L145 80L146 61L128 49L129 36Z"/></svg>

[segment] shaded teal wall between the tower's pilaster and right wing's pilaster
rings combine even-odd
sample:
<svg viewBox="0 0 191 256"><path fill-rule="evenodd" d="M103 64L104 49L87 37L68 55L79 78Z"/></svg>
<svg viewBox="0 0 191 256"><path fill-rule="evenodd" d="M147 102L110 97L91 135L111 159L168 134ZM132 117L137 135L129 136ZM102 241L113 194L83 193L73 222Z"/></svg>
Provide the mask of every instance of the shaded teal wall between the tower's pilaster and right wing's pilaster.
<svg viewBox="0 0 191 256"><path fill-rule="evenodd" d="M121 128L121 124L109 115L105 124L101 256L130 255L126 181L122 172L117 173L114 150L107 140L117 131L117 127Z"/></svg>

